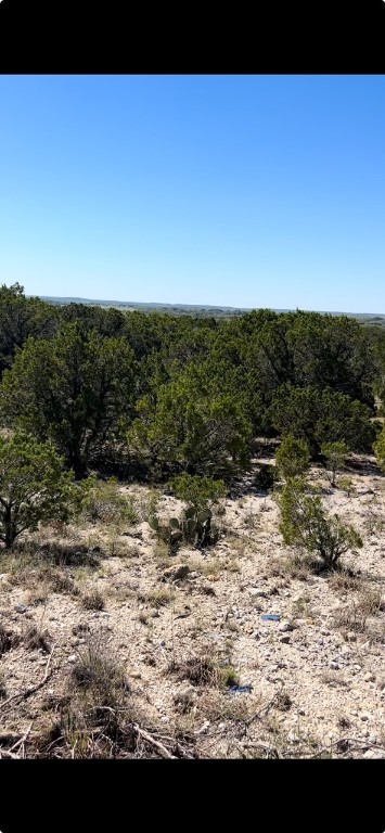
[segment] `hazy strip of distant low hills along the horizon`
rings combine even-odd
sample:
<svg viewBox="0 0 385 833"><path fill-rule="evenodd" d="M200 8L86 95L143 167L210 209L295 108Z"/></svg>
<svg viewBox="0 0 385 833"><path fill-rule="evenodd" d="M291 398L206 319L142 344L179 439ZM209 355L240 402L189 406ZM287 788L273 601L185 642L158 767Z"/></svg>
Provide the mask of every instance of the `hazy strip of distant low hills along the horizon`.
<svg viewBox="0 0 385 833"><path fill-rule="evenodd" d="M27 296L28 297L28 296ZM244 316L246 312L251 312L258 307L226 307L219 305L209 304L159 304L154 302L153 304L144 304L133 300L100 300L98 298L74 298L74 297L55 297L53 295L39 295L42 300L48 304L65 305L65 304L85 304L94 307L115 308L126 311L141 310L143 312L151 312L151 310L157 310L159 312L170 312L172 315L201 315L201 316ZM274 309L274 312L293 312L290 309ZM316 310L315 310L316 311ZM385 325L385 313L383 312L341 312L326 310L317 310L321 315L330 316L348 316L349 318L357 318L362 323L371 323Z"/></svg>

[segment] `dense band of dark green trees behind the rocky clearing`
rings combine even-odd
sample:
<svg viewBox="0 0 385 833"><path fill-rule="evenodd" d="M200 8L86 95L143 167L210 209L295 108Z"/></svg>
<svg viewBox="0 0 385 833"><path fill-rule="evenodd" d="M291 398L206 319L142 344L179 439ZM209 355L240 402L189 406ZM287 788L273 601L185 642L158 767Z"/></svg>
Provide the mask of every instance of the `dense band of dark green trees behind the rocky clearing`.
<svg viewBox="0 0 385 833"><path fill-rule="evenodd" d="M57 305L3 285L2 427L50 440L79 477L94 469L229 480L247 471L260 438L288 433L313 458L325 441L372 450L383 329L301 310L192 309Z"/></svg>

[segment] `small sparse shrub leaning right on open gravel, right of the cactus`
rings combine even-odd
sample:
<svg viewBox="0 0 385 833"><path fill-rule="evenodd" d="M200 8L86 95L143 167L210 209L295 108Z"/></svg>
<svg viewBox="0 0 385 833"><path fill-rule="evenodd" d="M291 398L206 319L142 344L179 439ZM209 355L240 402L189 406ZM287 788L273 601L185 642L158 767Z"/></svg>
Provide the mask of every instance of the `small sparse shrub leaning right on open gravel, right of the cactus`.
<svg viewBox="0 0 385 833"><path fill-rule="evenodd" d="M321 498L306 494L303 478L288 480L277 501L284 542L318 555L328 569L335 569L345 552L363 546L356 529L343 524L338 515L325 515Z"/></svg>

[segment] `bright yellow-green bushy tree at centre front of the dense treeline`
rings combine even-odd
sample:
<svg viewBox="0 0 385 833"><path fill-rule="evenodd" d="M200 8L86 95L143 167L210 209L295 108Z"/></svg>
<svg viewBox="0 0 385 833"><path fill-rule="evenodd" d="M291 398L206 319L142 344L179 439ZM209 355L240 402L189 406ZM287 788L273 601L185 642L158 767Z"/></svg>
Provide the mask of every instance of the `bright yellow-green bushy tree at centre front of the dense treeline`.
<svg viewBox="0 0 385 833"><path fill-rule="evenodd" d="M128 439L156 474L226 477L247 467L252 425L239 396L188 369L142 397Z"/></svg>

